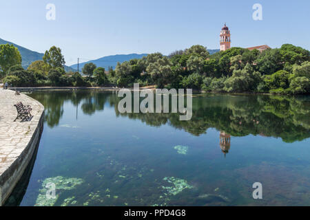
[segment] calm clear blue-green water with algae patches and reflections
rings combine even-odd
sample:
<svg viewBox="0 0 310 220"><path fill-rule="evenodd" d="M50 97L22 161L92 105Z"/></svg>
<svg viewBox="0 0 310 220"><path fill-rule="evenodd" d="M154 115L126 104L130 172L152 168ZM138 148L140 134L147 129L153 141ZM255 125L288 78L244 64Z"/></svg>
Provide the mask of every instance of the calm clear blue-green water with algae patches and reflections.
<svg viewBox="0 0 310 220"><path fill-rule="evenodd" d="M310 205L309 96L198 94L190 121L121 114L115 92L30 96L45 106L44 131L7 205Z"/></svg>

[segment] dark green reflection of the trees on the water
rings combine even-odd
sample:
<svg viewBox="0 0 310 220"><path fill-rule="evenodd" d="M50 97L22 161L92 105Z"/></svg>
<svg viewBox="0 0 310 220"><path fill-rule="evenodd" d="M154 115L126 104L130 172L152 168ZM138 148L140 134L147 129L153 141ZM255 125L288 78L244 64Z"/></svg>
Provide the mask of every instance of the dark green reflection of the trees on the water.
<svg viewBox="0 0 310 220"><path fill-rule="evenodd" d="M115 91L45 91L31 96L45 106L45 121L51 128L59 124L63 104L72 102L76 117L79 110L92 115L110 104L117 117L138 119L150 126L169 124L196 136L216 128L233 136L281 137L285 142L310 137L309 96L195 95L193 117L189 121L180 121L177 113L120 113L117 109L120 98Z"/></svg>

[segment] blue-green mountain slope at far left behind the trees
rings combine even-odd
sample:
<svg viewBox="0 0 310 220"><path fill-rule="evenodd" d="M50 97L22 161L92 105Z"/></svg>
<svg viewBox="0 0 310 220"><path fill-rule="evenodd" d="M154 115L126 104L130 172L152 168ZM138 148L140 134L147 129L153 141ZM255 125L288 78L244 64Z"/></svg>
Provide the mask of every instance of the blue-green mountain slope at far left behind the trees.
<svg viewBox="0 0 310 220"><path fill-rule="evenodd" d="M17 47L19 52L21 53L21 65L23 66L24 69L27 69L27 67L34 61L40 61L42 60L44 54L34 52L32 50L28 50L25 47L21 47L15 43L9 42L9 41L4 41L3 39L0 39L0 45L1 44L10 44L14 45L14 47ZM71 67L65 66L65 71L76 71L75 69L72 69Z"/></svg>

